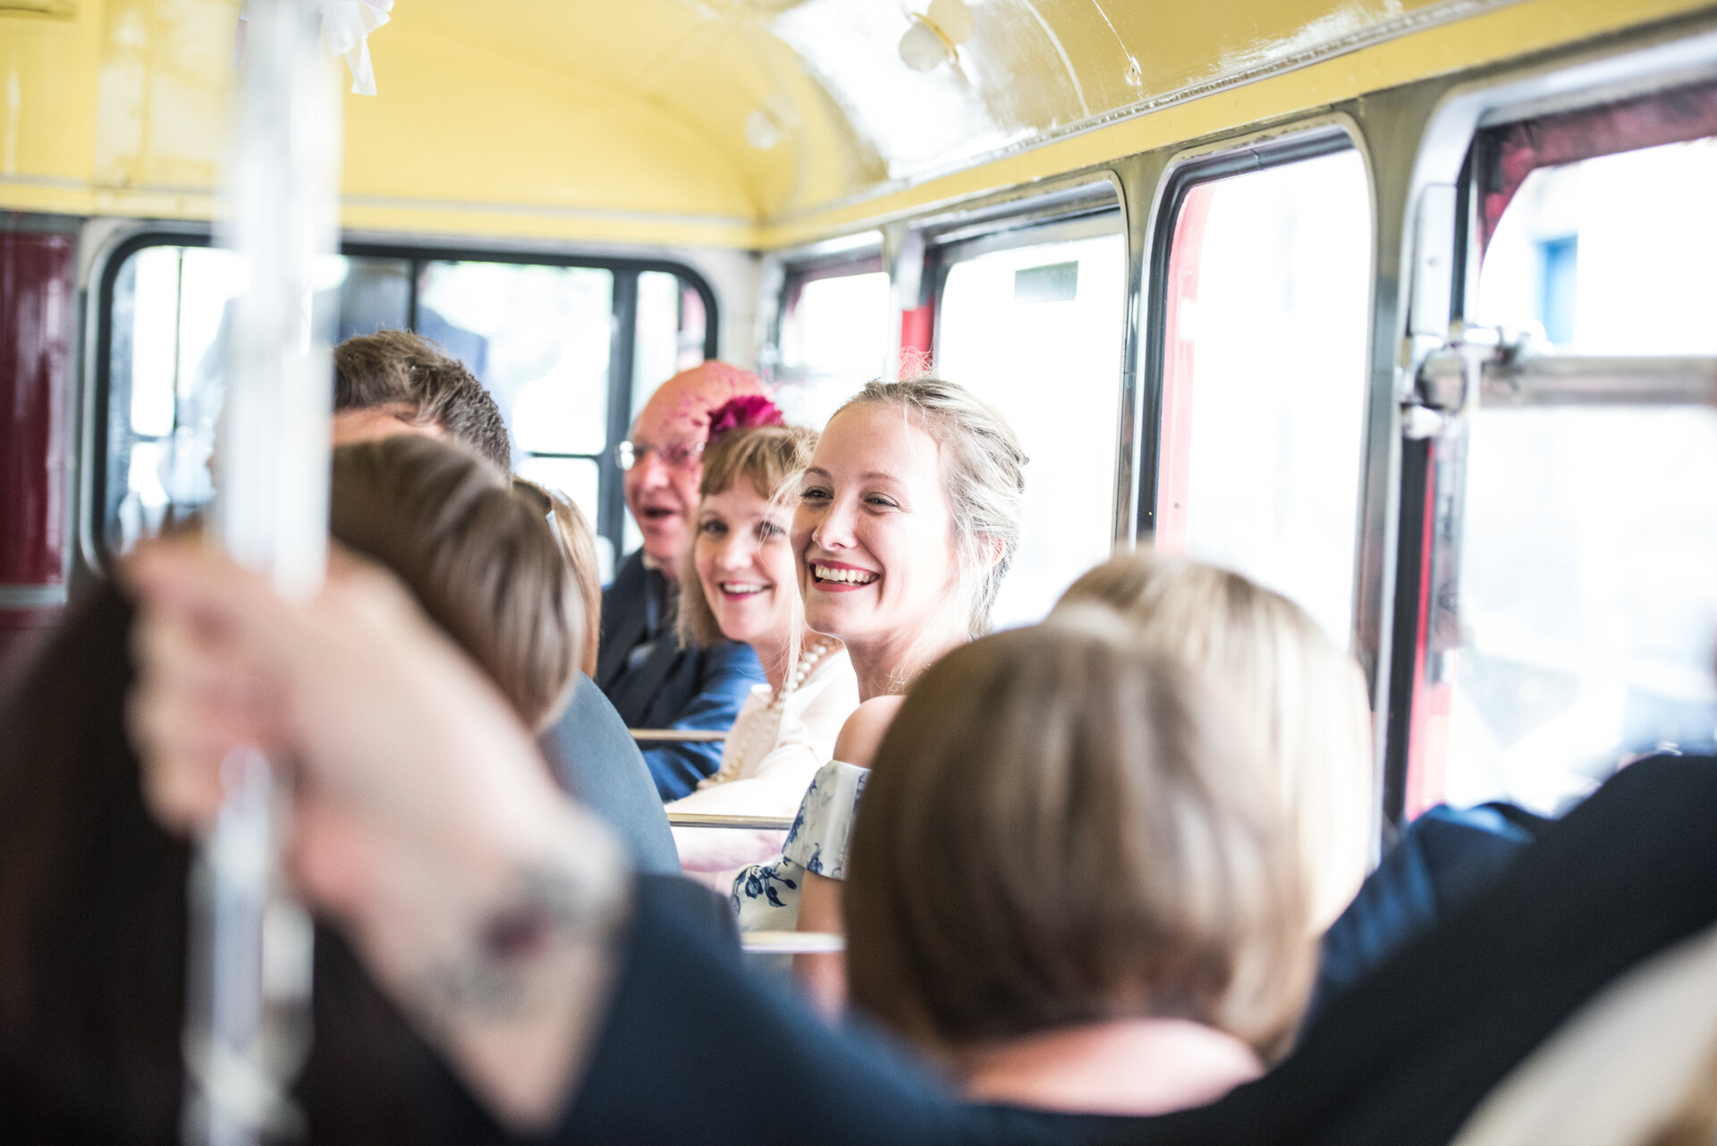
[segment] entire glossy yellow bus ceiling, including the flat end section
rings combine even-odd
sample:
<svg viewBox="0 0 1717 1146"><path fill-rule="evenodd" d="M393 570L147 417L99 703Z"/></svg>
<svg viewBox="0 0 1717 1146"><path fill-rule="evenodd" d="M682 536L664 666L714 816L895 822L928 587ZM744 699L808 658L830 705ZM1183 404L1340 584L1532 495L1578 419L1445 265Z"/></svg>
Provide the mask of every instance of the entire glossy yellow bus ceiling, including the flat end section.
<svg viewBox="0 0 1717 1146"><path fill-rule="evenodd" d="M379 96L345 96L345 223L798 242L1125 154L1142 120L1219 130L1693 7L397 0L369 41ZM237 12L0 5L0 206L208 218Z"/></svg>

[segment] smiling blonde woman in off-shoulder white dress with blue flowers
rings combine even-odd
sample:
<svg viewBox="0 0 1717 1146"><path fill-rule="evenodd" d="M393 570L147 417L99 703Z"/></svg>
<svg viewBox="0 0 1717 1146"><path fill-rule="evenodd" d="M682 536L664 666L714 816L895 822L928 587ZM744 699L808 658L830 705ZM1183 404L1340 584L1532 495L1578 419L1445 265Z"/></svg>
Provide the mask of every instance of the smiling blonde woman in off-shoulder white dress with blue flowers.
<svg viewBox="0 0 1717 1146"><path fill-rule="evenodd" d="M872 746L931 662L989 630L1020 544L1025 451L972 391L920 377L871 383L836 410L805 468L793 552L805 623L838 638L858 710L812 781L781 858L740 872L742 930L834 930L846 842ZM840 998L838 956L802 956L805 986Z"/></svg>

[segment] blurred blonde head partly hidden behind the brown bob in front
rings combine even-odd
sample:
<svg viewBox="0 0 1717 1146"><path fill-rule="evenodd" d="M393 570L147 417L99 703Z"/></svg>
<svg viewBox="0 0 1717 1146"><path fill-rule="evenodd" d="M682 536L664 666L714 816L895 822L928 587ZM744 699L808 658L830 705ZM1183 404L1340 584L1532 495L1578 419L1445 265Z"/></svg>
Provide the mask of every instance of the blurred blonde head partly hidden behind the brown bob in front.
<svg viewBox="0 0 1717 1146"><path fill-rule="evenodd" d="M1238 573L1152 552L1080 576L1056 611L1107 604L1145 643L1200 671L1229 703L1260 777L1283 801L1322 932L1372 860L1370 705L1358 664L1300 606Z"/></svg>

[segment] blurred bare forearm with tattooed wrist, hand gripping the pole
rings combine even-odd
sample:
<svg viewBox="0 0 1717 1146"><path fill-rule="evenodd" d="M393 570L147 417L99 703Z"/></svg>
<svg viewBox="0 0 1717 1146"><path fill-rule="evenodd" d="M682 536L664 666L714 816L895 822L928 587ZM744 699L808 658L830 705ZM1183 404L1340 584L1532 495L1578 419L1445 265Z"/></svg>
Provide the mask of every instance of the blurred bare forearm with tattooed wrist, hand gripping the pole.
<svg viewBox="0 0 1717 1146"><path fill-rule="evenodd" d="M139 554L130 580L130 727L156 815L209 825L239 745L290 767L300 894L486 1105L553 1122L628 914L606 829L555 791L494 686L388 575L337 561L295 606L179 542Z"/></svg>

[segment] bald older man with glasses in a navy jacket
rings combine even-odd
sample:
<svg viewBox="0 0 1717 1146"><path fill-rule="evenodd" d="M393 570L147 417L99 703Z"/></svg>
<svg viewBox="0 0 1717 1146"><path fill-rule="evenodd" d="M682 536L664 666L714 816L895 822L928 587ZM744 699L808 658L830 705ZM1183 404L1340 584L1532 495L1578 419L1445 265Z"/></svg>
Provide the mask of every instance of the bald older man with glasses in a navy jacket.
<svg viewBox="0 0 1717 1146"><path fill-rule="evenodd" d="M673 631L676 573L697 515L709 412L762 393L754 374L726 362L682 371L651 395L616 449L627 508L644 546L622 561L603 592L596 683L632 727L725 733L752 685L764 681L749 645L682 648ZM678 799L714 774L721 745L652 743L644 745L644 760L661 798Z"/></svg>

